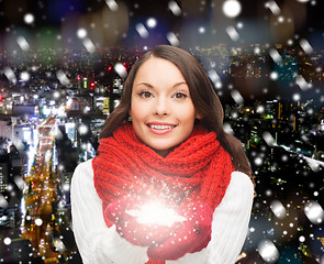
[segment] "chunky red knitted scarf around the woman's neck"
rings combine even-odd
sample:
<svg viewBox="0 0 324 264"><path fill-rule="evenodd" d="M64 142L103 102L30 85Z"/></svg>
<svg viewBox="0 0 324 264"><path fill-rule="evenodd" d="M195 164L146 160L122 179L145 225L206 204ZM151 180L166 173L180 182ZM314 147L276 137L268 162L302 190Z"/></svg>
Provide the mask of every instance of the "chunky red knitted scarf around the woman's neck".
<svg viewBox="0 0 324 264"><path fill-rule="evenodd" d="M235 169L216 134L201 125L166 157L145 145L131 123L102 139L98 152L92 166L103 209L127 194L164 197L181 205L200 200L215 209ZM105 222L112 226L108 219Z"/></svg>

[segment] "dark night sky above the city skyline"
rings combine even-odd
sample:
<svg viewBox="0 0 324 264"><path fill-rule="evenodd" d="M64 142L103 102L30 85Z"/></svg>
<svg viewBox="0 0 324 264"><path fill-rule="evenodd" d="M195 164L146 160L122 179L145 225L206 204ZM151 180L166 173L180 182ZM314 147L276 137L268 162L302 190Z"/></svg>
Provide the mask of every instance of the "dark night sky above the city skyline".
<svg viewBox="0 0 324 264"><path fill-rule="evenodd" d="M289 41L291 45L302 37L308 38L311 45L324 45L324 9L320 0L232 0L241 4L241 12L234 18L228 18L222 9L226 1L2 0L1 47L5 48L10 38L20 34L31 42L40 40L38 45L57 42L60 46L76 47L80 41L77 37L80 28L87 30L88 36L99 47L169 43L169 32L175 33L181 46L217 43L287 45ZM172 9L175 7L178 9ZM156 20L154 28L147 25L149 18ZM138 24L145 26L148 36L138 35ZM237 30L238 41L228 37L227 26Z"/></svg>

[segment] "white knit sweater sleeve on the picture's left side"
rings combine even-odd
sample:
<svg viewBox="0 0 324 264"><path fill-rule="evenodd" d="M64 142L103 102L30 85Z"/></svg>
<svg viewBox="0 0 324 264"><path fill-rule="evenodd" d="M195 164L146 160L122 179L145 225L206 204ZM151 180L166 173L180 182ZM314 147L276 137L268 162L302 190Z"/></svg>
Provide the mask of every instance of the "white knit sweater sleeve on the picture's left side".
<svg viewBox="0 0 324 264"><path fill-rule="evenodd" d="M147 248L135 246L121 238L115 226L108 228L102 201L93 184L92 160L81 163L71 179L71 229L83 264L143 264Z"/></svg>

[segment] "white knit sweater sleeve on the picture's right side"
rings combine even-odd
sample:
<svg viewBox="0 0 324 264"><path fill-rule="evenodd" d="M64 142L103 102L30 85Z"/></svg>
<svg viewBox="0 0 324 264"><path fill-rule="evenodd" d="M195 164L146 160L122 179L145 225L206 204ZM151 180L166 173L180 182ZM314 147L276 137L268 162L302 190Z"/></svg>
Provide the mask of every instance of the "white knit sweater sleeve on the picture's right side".
<svg viewBox="0 0 324 264"><path fill-rule="evenodd" d="M254 186L249 177L244 173L232 173L225 196L213 213L212 238L208 246L166 263L234 264L246 239L253 197Z"/></svg>

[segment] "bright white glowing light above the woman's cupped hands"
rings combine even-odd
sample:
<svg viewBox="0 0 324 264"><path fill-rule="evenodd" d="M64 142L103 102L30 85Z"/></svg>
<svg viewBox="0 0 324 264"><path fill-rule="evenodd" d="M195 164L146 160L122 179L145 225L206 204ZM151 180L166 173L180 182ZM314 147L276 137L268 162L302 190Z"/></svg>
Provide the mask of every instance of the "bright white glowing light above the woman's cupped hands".
<svg viewBox="0 0 324 264"><path fill-rule="evenodd" d="M150 201L141 207L139 210L129 210L126 213L137 218L138 223L158 224L171 227L175 222L185 221L174 209L168 208L159 201Z"/></svg>

